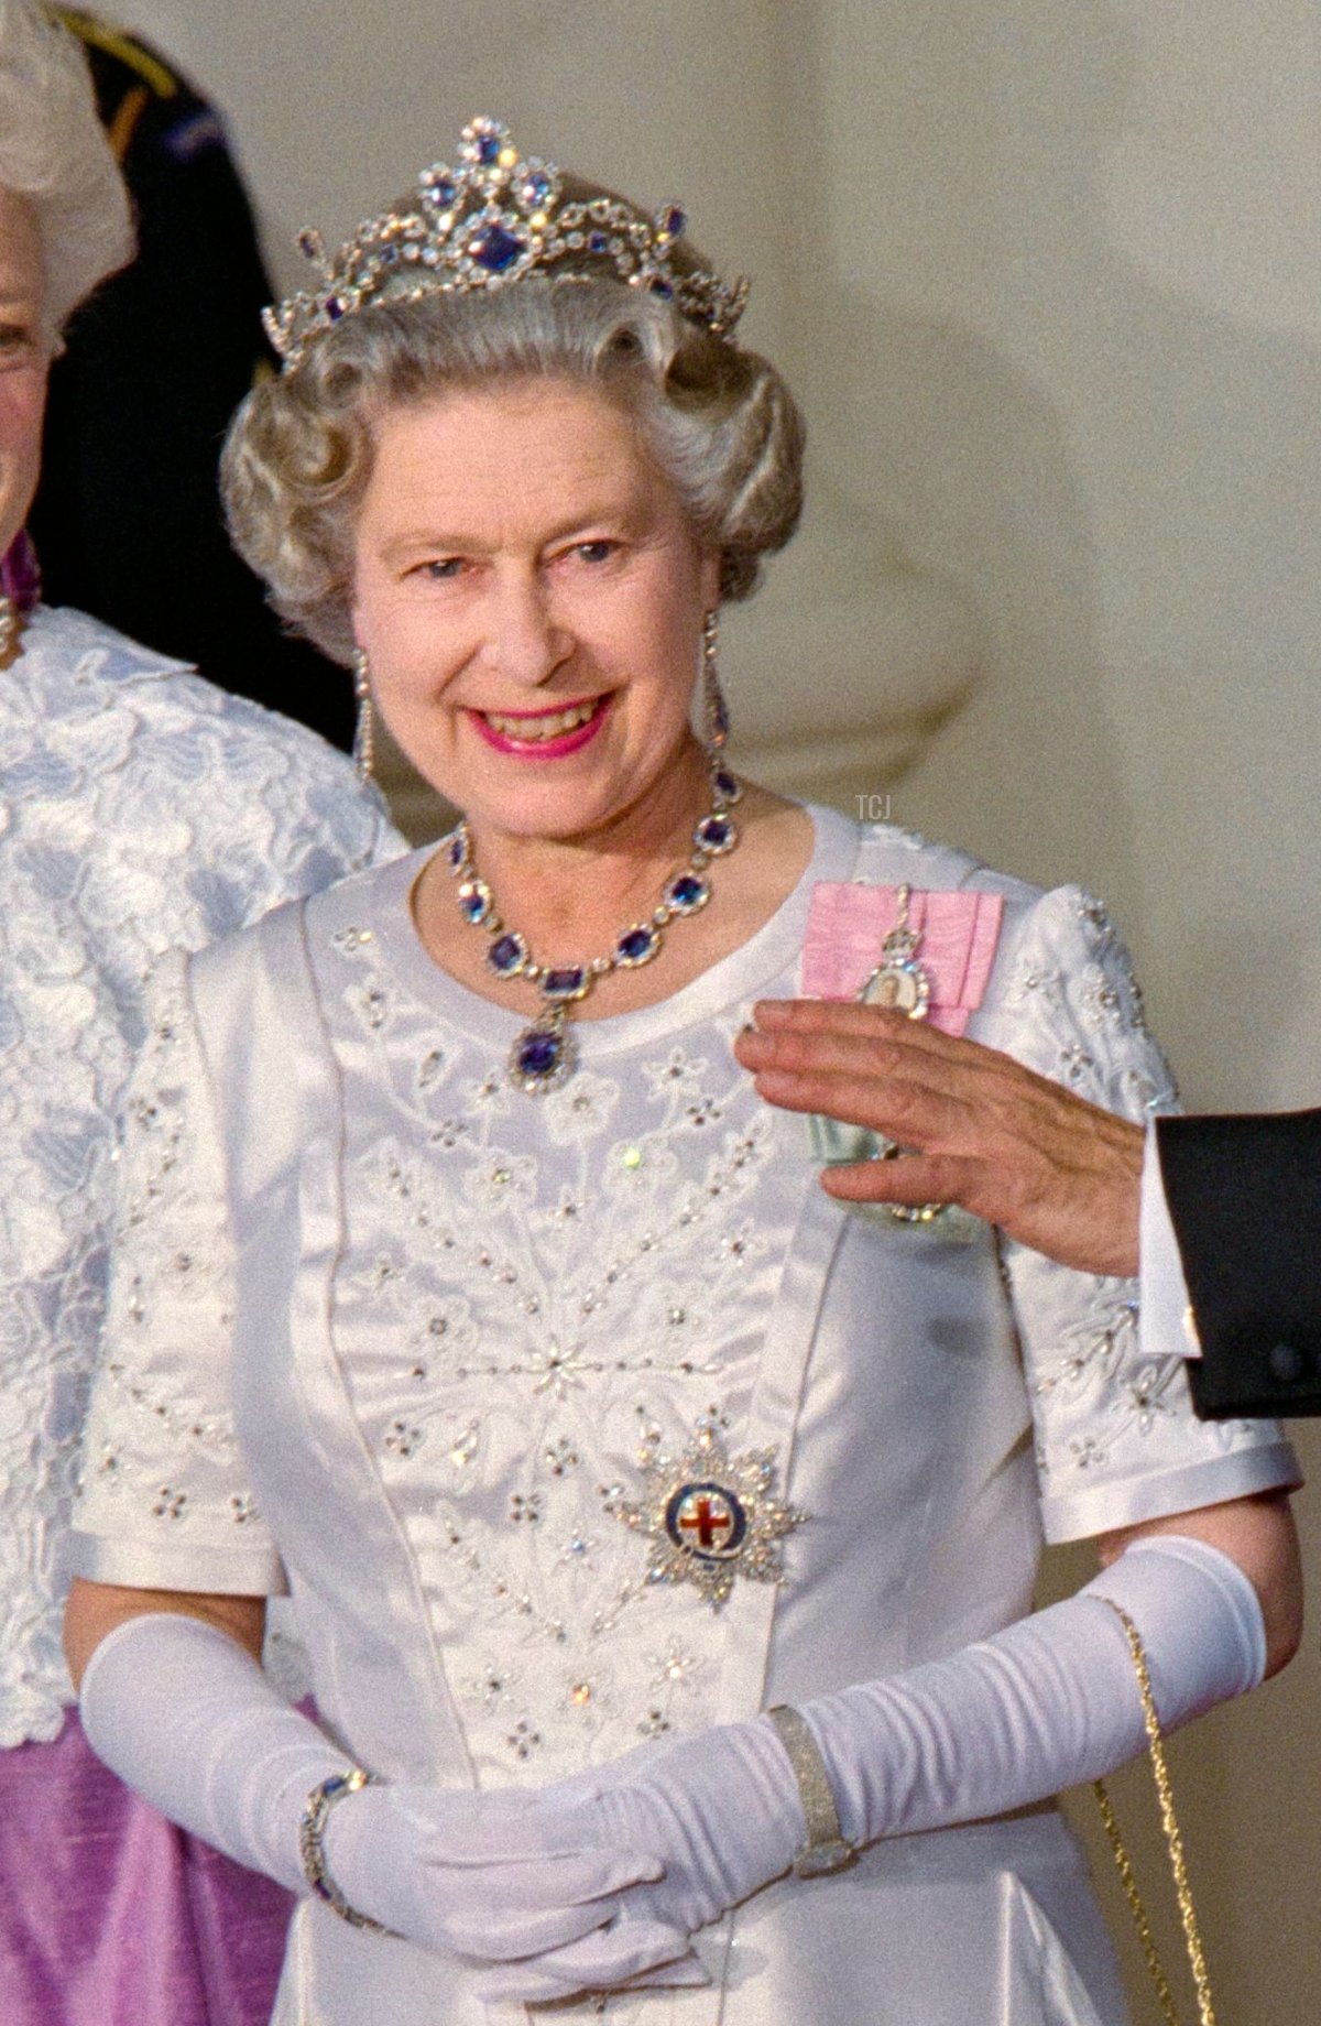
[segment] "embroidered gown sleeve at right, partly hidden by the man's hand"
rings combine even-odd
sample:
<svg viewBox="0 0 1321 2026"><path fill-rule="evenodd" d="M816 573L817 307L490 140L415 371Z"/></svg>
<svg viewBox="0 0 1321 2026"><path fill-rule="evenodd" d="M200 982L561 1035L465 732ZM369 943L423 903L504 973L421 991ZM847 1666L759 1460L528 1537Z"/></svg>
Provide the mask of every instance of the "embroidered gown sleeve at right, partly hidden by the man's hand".
<svg viewBox="0 0 1321 2026"><path fill-rule="evenodd" d="M1015 920L1017 916L1017 920ZM977 1039L1147 1120L1177 1110L1129 952L1078 887L1007 914ZM1047 1540L1078 1540L1299 1481L1272 1420L1201 1422L1183 1343L1139 1343L1137 1280L1072 1272L1005 1244Z"/></svg>

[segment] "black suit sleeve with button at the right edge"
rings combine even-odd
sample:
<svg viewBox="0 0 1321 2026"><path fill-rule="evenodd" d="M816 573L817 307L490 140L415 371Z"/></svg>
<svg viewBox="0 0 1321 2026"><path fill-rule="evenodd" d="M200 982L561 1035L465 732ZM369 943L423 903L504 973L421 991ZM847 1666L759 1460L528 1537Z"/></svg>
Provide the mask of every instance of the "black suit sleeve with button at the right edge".
<svg viewBox="0 0 1321 2026"><path fill-rule="evenodd" d="M1161 1118L1197 1412L1321 1414L1321 1110Z"/></svg>

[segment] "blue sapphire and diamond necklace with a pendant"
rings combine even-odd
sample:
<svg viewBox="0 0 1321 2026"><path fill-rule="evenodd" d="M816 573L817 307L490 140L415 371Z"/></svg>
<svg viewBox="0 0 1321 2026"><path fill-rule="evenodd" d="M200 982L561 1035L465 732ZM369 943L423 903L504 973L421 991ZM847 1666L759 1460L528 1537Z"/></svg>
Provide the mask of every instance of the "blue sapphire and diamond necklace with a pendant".
<svg viewBox="0 0 1321 2026"><path fill-rule="evenodd" d="M711 808L693 831L693 855L683 871L673 873L661 889L661 900L644 922L632 922L616 936L608 956L592 956L575 964L541 964L517 928L507 928L494 895L478 877L468 825L460 823L444 841L450 875L458 881L458 912L472 928L490 936L486 962L498 979L527 979L541 991L543 1009L525 1027L509 1051L509 1082L515 1090L539 1096L573 1072L577 1049L569 1033L569 1015L586 999L598 979L612 970L636 970L661 954L665 930L681 916L699 914L711 900L707 865L733 851L740 833L729 808L740 800L742 786L723 766L711 768Z"/></svg>

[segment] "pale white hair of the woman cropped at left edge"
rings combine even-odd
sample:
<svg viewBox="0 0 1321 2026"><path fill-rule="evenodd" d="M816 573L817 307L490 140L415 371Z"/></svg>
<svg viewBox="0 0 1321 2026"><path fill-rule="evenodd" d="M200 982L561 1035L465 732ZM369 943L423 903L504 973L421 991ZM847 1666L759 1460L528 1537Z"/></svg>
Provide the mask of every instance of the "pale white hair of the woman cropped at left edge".
<svg viewBox="0 0 1321 2026"><path fill-rule="evenodd" d="M38 0L0 0L0 186L36 211L43 324L57 336L132 257L134 229L83 51Z"/></svg>

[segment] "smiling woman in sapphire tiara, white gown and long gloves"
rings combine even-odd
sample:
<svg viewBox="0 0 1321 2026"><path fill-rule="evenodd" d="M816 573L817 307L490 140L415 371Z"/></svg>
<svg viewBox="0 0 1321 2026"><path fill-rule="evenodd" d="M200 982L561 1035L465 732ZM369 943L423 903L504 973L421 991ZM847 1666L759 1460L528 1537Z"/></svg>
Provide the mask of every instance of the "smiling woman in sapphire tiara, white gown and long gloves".
<svg viewBox="0 0 1321 2026"><path fill-rule="evenodd" d="M1086 895L723 764L800 460L740 306L478 120L227 450L466 812L166 964L126 1122L69 1653L105 1759L304 1894L282 2022L1116 2026L1052 1797L1143 1746L1118 1611L1165 1724L1297 1641L1278 1430L1197 1424L1129 1282L841 1203L881 1149L758 1074L806 991L1169 1096ZM1043 1534L1104 1574L1031 1615ZM320 1722L255 1667L286 1586Z"/></svg>

